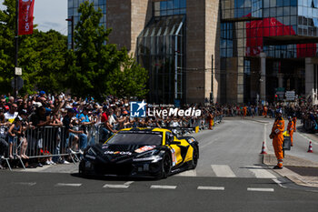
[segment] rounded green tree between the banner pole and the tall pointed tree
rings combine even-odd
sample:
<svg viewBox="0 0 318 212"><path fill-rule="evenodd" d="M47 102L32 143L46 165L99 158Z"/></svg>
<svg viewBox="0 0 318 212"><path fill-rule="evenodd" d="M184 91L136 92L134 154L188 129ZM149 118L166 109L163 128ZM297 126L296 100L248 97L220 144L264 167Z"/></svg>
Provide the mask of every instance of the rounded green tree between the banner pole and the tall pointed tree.
<svg viewBox="0 0 318 212"><path fill-rule="evenodd" d="M19 66L23 67L25 80L22 91L64 90L66 44L67 37L55 30L46 33L35 30L33 35L24 36L19 51Z"/></svg>

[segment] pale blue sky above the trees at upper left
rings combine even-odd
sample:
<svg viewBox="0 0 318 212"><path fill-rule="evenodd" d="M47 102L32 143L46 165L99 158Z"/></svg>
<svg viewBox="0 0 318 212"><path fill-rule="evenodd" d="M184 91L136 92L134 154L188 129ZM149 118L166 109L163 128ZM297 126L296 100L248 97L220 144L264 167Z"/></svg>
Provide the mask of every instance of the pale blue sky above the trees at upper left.
<svg viewBox="0 0 318 212"><path fill-rule="evenodd" d="M0 0L0 9L4 0ZM54 29L67 35L67 0L35 0L34 24L40 31Z"/></svg>

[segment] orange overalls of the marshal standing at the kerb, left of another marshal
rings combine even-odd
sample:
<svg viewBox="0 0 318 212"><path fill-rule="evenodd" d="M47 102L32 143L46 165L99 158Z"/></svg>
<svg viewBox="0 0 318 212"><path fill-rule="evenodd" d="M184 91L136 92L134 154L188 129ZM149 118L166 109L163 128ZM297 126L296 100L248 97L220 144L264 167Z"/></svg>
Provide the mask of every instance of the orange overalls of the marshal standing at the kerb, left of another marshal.
<svg viewBox="0 0 318 212"><path fill-rule="evenodd" d="M276 118L273 123L272 135L273 135L273 150L277 158L277 167L283 167L283 130L285 124L283 117Z"/></svg>

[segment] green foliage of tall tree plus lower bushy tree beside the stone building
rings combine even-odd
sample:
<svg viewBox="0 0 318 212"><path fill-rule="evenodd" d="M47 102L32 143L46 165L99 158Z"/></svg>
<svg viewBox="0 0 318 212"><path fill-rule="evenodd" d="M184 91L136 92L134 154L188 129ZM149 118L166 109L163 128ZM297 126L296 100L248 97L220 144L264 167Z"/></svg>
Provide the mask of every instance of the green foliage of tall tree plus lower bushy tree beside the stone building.
<svg viewBox="0 0 318 212"><path fill-rule="evenodd" d="M66 59L66 86L72 94L94 96L98 100L108 94L144 96L146 71L134 63L124 48L117 50L116 45L108 43L111 29L99 24L101 10L96 11L93 3L85 1L78 12L81 16L75 26L75 52L69 50Z"/></svg>

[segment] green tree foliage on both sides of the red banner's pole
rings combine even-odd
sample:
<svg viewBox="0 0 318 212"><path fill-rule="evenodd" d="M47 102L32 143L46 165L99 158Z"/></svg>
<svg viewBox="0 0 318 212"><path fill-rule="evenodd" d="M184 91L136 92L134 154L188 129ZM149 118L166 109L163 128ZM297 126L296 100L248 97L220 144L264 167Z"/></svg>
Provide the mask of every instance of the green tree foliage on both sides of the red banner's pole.
<svg viewBox="0 0 318 212"><path fill-rule="evenodd" d="M0 92L12 90L10 82L15 70L15 0L5 0L0 10ZM36 27L36 25L35 25ZM50 30L34 30L33 35L19 36L18 64L23 69L24 84L20 93L36 89L48 92L63 90L67 38Z"/></svg>

